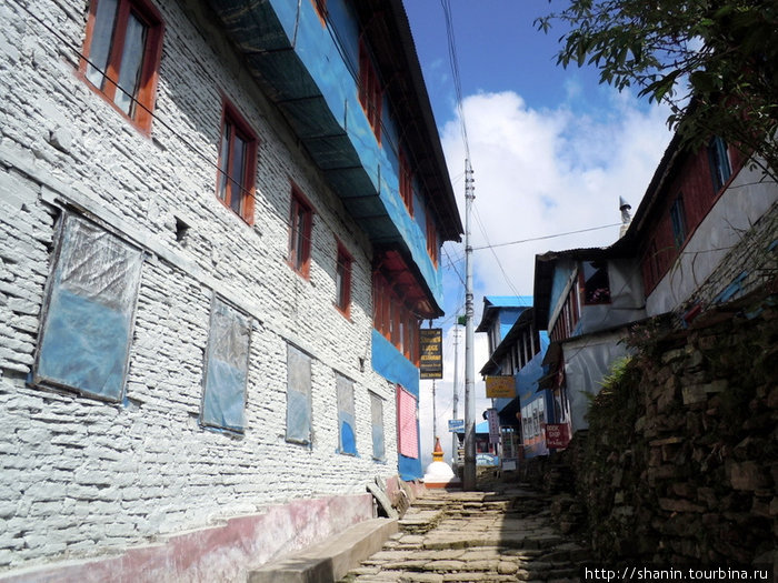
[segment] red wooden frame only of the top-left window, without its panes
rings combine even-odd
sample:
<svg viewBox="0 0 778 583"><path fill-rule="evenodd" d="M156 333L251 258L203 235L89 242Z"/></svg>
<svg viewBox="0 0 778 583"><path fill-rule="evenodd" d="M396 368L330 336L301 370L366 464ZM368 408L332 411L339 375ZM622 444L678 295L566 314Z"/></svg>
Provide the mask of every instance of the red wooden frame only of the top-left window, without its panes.
<svg viewBox="0 0 778 583"><path fill-rule="evenodd" d="M107 77L104 88L94 86L87 78L87 68L89 63L89 53L94 37L94 21L97 17L97 7L99 0L89 2L89 13L87 16L87 30L84 34L83 56L79 62L79 77L87 83L87 87L94 93L104 99L114 110L117 110L124 119L129 120L138 130L149 134L151 133L151 122L153 120L154 102L157 98L157 83L159 81L159 63L162 58L162 37L164 33L164 23L157 8L148 0L119 0L117 4L117 19L111 33L111 48L109 51L108 63L103 74ZM130 11L140 18L147 26L148 33L146 44L143 47L143 59L140 72L140 82L138 84L138 93L133 96L137 103L132 115L124 113L113 100L118 90L119 82L119 66L124 48L124 36L127 34L127 22L130 17Z"/></svg>

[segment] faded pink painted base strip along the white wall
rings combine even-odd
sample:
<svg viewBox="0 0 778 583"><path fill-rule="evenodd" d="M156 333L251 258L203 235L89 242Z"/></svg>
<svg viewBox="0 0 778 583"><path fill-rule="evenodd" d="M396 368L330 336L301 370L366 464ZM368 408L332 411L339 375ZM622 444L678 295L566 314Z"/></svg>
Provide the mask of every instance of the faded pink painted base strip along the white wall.
<svg viewBox="0 0 778 583"><path fill-rule="evenodd" d="M372 496L299 500L218 526L166 536L99 559L51 563L0 574L0 582L160 583L246 581L249 566L322 541L371 519Z"/></svg>

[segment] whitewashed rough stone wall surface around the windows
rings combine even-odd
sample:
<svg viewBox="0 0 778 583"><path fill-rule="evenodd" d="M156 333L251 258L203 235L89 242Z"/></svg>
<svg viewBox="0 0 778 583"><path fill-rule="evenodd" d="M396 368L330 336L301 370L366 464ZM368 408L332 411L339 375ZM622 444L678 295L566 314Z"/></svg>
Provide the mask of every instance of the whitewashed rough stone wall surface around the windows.
<svg viewBox="0 0 778 583"><path fill-rule="evenodd" d="M87 2L0 4L0 573L396 474L393 388L370 368L366 235L208 14L157 4L151 138L77 77ZM215 195L222 93L259 139L253 228ZM286 263L290 181L316 209L310 281ZM28 383L64 204L147 252L120 404ZM333 306L336 235L353 255L350 321ZM198 423L213 293L252 319L240 436ZM289 341L313 358L312 448L285 440ZM357 458L336 453L336 372L355 381ZM386 463L371 455L368 390L386 399Z"/></svg>

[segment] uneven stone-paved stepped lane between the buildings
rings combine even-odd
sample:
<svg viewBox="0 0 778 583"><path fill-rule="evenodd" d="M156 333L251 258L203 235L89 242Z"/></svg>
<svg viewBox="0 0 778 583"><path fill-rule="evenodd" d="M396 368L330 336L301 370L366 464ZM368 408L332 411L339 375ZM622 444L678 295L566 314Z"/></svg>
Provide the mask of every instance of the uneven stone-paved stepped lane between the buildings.
<svg viewBox="0 0 778 583"><path fill-rule="evenodd" d="M430 491L345 582L578 581L587 549L559 534L548 496Z"/></svg>

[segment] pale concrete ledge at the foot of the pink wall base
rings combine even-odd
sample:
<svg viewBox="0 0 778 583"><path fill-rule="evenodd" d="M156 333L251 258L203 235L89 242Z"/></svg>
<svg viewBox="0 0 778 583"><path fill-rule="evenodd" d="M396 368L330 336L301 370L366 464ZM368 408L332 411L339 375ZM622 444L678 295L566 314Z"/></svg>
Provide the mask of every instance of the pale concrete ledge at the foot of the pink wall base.
<svg viewBox="0 0 778 583"><path fill-rule="evenodd" d="M330 583L371 554L398 531L396 519L360 522L340 534L287 557L249 571L248 583Z"/></svg>

